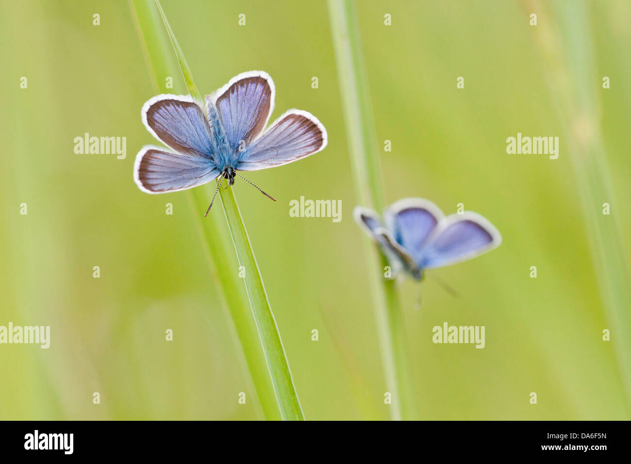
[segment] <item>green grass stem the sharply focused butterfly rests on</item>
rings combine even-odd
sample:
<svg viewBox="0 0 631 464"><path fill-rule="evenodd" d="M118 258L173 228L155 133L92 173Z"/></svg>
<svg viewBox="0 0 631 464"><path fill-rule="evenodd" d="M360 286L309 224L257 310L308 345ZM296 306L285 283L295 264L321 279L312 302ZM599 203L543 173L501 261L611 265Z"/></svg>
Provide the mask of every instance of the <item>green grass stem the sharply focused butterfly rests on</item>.
<svg viewBox="0 0 631 464"><path fill-rule="evenodd" d="M170 52L160 26L162 18L187 89L192 97L201 101L191 69L160 2L155 0L154 8L151 0L131 0L131 8L138 19L137 26L153 73L156 91L159 89L158 76L172 75L168 71L172 69L169 66ZM264 417L271 420L304 420L285 350L232 188L220 191L228 227L221 224L216 215L210 214L203 218L203 212L211 198L208 186L191 189L189 193L203 242L211 258L211 273L216 278L221 303L230 312ZM231 241L228 234L232 235L240 266L245 268L243 279L239 277L240 271L233 264L233 258L228 256Z"/></svg>

